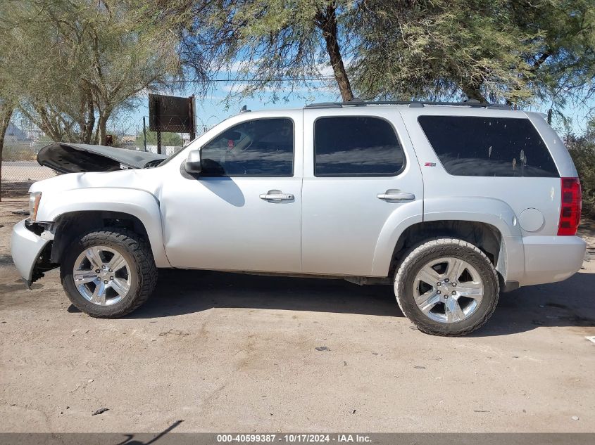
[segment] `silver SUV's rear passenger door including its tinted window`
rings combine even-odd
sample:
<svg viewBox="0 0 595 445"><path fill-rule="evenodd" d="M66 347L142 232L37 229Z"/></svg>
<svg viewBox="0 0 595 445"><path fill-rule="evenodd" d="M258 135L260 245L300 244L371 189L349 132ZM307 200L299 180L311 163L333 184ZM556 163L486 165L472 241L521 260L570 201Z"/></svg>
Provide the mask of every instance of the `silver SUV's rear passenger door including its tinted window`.
<svg viewBox="0 0 595 445"><path fill-rule="evenodd" d="M394 231L399 213L422 218L422 175L401 116L306 108L303 128L303 272L375 275L380 234Z"/></svg>

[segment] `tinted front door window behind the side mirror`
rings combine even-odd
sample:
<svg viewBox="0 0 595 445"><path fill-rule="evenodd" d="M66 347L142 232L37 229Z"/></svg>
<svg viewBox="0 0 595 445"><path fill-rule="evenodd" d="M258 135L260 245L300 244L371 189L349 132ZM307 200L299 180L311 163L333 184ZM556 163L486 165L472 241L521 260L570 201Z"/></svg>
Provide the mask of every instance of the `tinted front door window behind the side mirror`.
<svg viewBox="0 0 595 445"><path fill-rule="evenodd" d="M287 118L242 122L203 146L203 176L292 176L294 124Z"/></svg>

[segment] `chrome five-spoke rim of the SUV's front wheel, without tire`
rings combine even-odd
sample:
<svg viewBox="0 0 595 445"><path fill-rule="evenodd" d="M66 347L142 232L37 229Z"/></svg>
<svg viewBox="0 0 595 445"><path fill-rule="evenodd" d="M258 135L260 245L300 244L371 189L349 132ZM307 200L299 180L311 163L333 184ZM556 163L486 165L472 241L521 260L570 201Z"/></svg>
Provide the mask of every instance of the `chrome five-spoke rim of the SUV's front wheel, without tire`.
<svg viewBox="0 0 595 445"><path fill-rule="evenodd" d="M130 290L130 266L110 247L89 247L76 259L73 279L84 299L110 306L120 302Z"/></svg>

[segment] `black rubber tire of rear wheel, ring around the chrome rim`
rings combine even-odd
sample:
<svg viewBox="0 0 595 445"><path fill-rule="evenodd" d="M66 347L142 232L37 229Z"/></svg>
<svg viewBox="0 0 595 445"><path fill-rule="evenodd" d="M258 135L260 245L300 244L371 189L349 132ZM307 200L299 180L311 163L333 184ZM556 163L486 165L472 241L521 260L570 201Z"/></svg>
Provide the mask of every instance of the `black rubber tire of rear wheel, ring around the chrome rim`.
<svg viewBox="0 0 595 445"><path fill-rule="evenodd" d="M473 314L456 323L440 323L427 317L413 299L413 285L418 271L432 259L455 257L471 264L482 278L484 295ZM397 267L394 277L396 302L403 314L419 330L431 335L458 337L472 333L494 314L500 295L500 284L494 264L475 245L456 238L434 238L426 240L408 250Z"/></svg>

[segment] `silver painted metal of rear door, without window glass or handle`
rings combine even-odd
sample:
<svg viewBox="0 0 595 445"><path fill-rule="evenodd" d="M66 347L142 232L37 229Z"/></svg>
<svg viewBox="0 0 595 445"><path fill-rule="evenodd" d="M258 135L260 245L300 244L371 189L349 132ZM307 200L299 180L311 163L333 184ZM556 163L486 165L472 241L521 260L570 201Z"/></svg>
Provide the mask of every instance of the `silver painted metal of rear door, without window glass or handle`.
<svg viewBox="0 0 595 445"><path fill-rule="evenodd" d="M337 115L388 121L403 148L403 171L396 176L315 176L314 122L322 116ZM399 231L406 221L421 222L423 214L422 175L399 112L394 108L306 109L303 141L303 271L387 276ZM377 198L389 190L411 193L415 199L394 202Z"/></svg>

